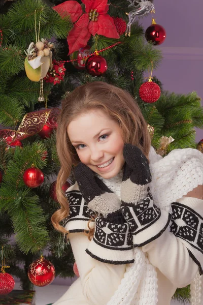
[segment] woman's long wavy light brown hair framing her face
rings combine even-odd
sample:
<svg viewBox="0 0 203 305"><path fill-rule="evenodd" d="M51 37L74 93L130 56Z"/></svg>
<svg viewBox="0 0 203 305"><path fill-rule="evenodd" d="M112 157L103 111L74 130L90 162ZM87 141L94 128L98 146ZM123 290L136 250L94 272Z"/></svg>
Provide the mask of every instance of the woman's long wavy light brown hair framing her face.
<svg viewBox="0 0 203 305"><path fill-rule="evenodd" d="M69 216L70 210L62 186L70 176L73 166L80 162L67 134L67 127L72 120L94 109L103 110L116 121L124 143L138 146L147 158L149 155L151 140L147 123L137 102L128 92L106 82L95 81L79 86L68 94L62 101L56 133L56 147L61 164L56 182L56 196L61 207L51 217L54 228L62 233L69 233L61 226L61 222ZM93 231L90 230L89 238L92 234Z"/></svg>

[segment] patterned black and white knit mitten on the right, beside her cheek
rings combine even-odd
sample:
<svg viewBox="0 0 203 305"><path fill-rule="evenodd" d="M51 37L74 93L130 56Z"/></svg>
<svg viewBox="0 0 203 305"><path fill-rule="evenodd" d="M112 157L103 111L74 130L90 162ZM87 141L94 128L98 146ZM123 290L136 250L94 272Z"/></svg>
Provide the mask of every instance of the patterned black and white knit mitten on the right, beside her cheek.
<svg viewBox="0 0 203 305"><path fill-rule="evenodd" d="M133 235L134 247L142 247L165 231L171 215L155 205L149 192L151 173L142 151L137 146L125 144L123 156L121 210Z"/></svg>

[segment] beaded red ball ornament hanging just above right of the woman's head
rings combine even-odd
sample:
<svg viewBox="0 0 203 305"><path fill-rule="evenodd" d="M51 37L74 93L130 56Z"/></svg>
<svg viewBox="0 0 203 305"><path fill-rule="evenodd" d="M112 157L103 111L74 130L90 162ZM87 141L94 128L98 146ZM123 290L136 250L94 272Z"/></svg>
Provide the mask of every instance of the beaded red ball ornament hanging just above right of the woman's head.
<svg viewBox="0 0 203 305"><path fill-rule="evenodd" d="M139 95L144 102L154 103L160 98L161 89L155 82L147 81L140 86Z"/></svg>

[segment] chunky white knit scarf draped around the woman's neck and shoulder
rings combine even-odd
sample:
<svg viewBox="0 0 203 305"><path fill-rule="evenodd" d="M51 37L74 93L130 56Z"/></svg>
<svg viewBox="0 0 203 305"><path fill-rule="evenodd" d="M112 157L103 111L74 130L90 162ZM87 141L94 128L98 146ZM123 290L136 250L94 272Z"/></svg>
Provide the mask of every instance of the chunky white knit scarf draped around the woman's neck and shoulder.
<svg viewBox="0 0 203 305"><path fill-rule="evenodd" d="M203 185L203 155L200 151L185 148L175 149L166 157L150 149L152 182L150 191L155 204L168 212L171 203L182 198L198 185ZM105 184L120 198L120 173L112 179L103 179ZM147 255L140 249L134 250L134 263L126 268L117 291L107 305L156 305L158 298L157 275ZM191 283L191 305L203 303L202 276L196 274Z"/></svg>

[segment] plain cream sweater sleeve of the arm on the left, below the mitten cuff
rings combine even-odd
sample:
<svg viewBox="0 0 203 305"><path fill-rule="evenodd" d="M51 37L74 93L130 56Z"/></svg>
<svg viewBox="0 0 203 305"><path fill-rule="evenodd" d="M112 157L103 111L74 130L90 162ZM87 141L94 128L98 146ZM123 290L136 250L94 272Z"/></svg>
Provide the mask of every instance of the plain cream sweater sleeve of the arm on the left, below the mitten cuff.
<svg viewBox="0 0 203 305"><path fill-rule="evenodd" d="M84 233L70 233L70 242L84 296L92 305L106 305L117 290L126 265L111 265L89 256L85 250L90 241Z"/></svg>

